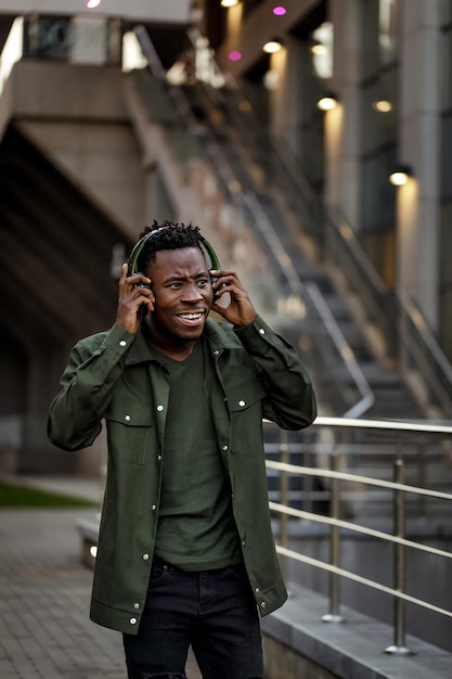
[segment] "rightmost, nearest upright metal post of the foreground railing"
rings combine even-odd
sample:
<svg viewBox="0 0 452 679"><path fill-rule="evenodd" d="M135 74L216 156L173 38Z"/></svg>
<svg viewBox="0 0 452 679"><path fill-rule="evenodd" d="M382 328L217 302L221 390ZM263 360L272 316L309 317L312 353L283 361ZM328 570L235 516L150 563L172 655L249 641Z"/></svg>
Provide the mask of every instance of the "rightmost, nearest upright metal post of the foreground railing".
<svg viewBox="0 0 452 679"><path fill-rule="evenodd" d="M393 481L396 484L405 482L405 464L403 460L396 460L393 465ZM393 533L401 539L405 537L405 494L396 488L393 491ZM397 543L393 549L393 589L403 592L405 588L405 547ZM411 655L412 651L405 646L405 602L399 597L393 601L393 644L385 649L385 653L393 655Z"/></svg>

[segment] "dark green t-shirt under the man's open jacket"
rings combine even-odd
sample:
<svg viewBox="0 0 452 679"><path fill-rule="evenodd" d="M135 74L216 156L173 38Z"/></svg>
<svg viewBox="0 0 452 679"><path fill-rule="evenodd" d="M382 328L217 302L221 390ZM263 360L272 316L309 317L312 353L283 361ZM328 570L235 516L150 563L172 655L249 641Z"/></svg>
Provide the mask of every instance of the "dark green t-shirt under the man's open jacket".
<svg viewBox="0 0 452 679"><path fill-rule="evenodd" d="M155 554L184 571L242 562L205 387L202 343L176 361L158 353L170 375Z"/></svg>

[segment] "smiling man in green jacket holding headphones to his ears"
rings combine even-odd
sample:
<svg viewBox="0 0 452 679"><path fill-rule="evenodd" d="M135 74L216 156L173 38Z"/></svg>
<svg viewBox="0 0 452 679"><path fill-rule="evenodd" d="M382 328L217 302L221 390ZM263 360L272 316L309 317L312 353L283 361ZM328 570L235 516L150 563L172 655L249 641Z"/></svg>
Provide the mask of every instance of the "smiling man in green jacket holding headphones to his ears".
<svg viewBox="0 0 452 679"><path fill-rule="evenodd" d="M75 346L49 415L66 450L106 422L91 618L122 632L129 679L183 679L190 645L204 679L263 677L257 611L287 594L262 418L308 426L314 394L236 273L208 270L196 227L154 222L142 239L115 324Z"/></svg>

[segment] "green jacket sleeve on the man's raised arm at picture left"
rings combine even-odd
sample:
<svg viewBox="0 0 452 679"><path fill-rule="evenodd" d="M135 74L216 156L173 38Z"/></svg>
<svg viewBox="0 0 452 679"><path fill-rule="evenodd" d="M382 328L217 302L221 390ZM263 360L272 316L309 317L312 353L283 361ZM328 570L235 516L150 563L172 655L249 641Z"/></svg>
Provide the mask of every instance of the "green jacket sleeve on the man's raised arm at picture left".
<svg viewBox="0 0 452 679"><path fill-rule="evenodd" d="M63 450L78 450L93 443L122 372L122 358L134 340L135 335L115 324L109 332L75 345L60 382L62 389L49 410L52 444Z"/></svg>

